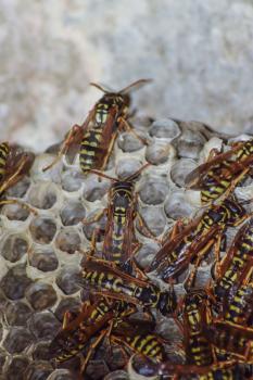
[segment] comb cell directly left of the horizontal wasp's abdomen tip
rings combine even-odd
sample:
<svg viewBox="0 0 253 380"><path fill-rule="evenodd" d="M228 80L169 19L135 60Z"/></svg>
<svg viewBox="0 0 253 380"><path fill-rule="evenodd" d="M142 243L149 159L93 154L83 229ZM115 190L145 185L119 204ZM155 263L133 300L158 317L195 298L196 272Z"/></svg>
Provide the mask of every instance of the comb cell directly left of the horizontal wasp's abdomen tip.
<svg viewBox="0 0 253 380"><path fill-rule="evenodd" d="M65 294L73 294L79 290L79 269L76 267L65 267L56 277L56 284Z"/></svg>

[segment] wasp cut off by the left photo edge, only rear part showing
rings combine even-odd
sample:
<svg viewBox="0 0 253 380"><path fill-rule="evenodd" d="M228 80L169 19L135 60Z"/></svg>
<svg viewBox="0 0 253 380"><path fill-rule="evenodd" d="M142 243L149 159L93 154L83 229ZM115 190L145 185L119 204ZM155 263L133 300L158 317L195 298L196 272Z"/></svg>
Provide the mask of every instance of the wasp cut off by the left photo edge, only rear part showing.
<svg viewBox="0 0 253 380"><path fill-rule="evenodd" d="M10 145L8 142L0 143L0 197L29 172L34 160L33 153L21 152L18 147ZM0 200L0 205L13 203L20 204L36 214L31 207L18 200Z"/></svg>

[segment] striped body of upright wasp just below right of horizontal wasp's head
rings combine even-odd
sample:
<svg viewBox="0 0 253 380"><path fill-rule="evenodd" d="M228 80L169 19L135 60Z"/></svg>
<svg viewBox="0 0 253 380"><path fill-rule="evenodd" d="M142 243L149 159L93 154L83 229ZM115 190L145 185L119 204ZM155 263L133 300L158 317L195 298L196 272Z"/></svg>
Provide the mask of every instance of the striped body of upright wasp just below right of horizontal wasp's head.
<svg viewBox="0 0 253 380"><path fill-rule="evenodd" d="M208 366L213 363L213 351L203 334L208 321L206 294L202 290L187 293L184 309L186 362L190 365Z"/></svg>

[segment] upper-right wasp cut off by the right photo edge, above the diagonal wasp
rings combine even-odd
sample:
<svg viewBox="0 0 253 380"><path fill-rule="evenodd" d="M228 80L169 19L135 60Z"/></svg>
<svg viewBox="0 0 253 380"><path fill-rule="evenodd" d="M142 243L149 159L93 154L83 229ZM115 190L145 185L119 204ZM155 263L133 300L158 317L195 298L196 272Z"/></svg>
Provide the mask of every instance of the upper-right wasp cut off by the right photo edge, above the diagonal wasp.
<svg viewBox="0 0 253 380"><path fill-rule="evenodd" d="M203 205L226 198L251 170L253 162L253 139L236 143L229 151L211 151L206 163L186 177L186 186L201 190Z"/></svg>

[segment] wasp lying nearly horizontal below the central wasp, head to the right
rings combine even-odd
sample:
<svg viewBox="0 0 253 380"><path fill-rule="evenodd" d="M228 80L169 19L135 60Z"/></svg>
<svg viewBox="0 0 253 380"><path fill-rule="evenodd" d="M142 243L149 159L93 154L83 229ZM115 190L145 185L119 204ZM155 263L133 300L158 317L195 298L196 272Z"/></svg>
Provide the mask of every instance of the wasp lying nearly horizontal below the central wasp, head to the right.
<svg viewBox="0 0 253 380"><path fill-rule="evenodd" d="M134 305L154 307L163 315L172 314L176 308L176 295L173 290L160 291L147 278L136 278L103 261L88 259L86 262L81 271L80 286L87 284L101 290L103 296Z"/></svg>

